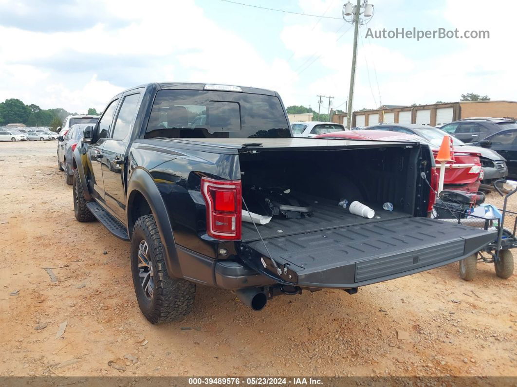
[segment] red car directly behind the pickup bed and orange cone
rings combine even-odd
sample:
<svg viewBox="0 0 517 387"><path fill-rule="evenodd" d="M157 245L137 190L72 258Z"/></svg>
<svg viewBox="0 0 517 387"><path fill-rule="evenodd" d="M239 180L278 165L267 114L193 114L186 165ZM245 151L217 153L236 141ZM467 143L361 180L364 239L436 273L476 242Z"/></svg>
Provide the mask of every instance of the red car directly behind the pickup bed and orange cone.
<svg viewBox="0 0 517 387"><path fill-rule="evenodd" d="M376 141L412 141L429 145L434 156L438 153L438 147L422 137L413 134L388 132L385 130L354 130L336 133L326 133L315 138L339 138L340 140L376 140ZM449 190L461 190L478 192L480 180L482 180L482 168L479 161L479 153L475 151L454 150L454 162L447 163L445 171L444 188Z"/></svg>

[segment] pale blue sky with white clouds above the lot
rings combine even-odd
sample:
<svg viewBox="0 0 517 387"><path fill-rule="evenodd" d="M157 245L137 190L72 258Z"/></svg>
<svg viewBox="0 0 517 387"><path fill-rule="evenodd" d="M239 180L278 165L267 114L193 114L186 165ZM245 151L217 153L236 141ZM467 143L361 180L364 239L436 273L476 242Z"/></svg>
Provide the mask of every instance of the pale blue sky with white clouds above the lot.
<svg viewBox="0 0 517 387"><path fill-rule="evenodd" d="M0 101L85 113L143 83L200 82L272 89L286 106L316 111L317 95L332 96L331 107L345 110L354 30L342 0L235 1L325 18L222 0L0 0ZM353 110L467 92L517 100L517 2L369 2ZM414 27L488 30L490 38L367 38L368 28Z"/></svg>

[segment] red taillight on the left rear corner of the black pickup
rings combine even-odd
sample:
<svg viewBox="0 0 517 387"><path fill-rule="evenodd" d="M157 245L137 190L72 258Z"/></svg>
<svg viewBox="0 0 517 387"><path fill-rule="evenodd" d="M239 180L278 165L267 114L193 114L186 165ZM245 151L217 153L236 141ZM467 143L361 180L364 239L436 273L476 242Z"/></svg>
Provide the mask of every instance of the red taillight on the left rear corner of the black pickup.
<svg viewBox="0 0 517 387"><path fill-rule="evenodd" d="M240 180L201 178L206 202L206 233L216 239L241 239L242 193Z"/></svg>

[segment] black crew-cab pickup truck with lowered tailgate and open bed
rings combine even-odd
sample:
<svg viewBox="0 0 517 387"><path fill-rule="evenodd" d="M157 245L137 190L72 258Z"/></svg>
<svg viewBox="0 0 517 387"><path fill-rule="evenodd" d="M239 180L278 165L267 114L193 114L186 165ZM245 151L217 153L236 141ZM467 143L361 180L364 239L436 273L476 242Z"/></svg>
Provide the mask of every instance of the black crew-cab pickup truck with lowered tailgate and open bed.
<svg viewBox="0 0 517 387"><path fill-rule="evenodd" d="M436 173L426 145L293 138L265 89L131 88L73 157L75 217L131 242L136 298L153 323L187 314L196 284L260 310L280 294L352 294L447 265L495 238L427 217ZM342 199L376 216L353 215Z"/></svg>

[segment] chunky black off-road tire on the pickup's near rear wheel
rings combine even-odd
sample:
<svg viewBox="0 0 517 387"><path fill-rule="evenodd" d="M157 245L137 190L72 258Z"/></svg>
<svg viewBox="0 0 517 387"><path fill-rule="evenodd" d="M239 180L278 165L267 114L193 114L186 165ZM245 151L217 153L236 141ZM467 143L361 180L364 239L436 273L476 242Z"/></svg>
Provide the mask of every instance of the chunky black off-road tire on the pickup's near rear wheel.
<svg viewBox="0 0 517 387"><path fill-rule="evenodd" d="M145 241L153 268L154 292L147 298L140 282L139 246ZM140 310L153 324L170 322L190 313L195 297L195 284L181 278L171 278L165 267L163 246L153 215L141 216L133 227L131 238L131 273Z"/></svg>

